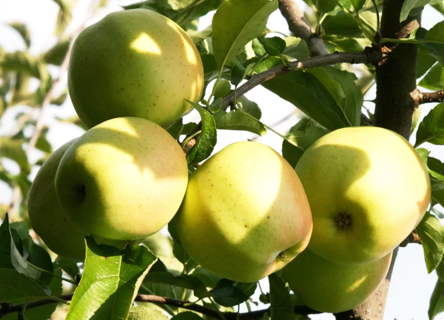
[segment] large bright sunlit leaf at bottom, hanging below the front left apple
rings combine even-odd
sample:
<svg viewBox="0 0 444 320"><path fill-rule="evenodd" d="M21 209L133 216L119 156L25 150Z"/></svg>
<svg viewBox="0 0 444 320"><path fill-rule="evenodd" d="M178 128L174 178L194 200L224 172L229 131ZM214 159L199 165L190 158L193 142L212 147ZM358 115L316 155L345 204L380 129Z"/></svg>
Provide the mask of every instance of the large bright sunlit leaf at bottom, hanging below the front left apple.
<svg viewBox="0 0 444 320"><path fill-rule="evenodd" d="M121 251L97 245L91 237L86 238L86 244L85 268L66 319L87 320L94 314L126 319L156 256L144 246Z"/></svg>

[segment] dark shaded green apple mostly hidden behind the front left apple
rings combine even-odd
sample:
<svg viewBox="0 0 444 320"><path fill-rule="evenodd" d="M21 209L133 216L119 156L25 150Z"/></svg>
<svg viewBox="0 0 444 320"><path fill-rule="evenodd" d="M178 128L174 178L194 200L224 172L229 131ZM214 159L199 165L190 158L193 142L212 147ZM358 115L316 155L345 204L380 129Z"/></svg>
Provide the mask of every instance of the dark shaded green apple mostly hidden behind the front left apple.
<svg viewBox="0 0 444 320"><path fill-rule="evenodd" d="M84 235L69 222L60 207L54 186L60 160L74 141L54 151L38 170L29 190L28 214L32 228L49 249L74 261L83 261Z"/></svg>

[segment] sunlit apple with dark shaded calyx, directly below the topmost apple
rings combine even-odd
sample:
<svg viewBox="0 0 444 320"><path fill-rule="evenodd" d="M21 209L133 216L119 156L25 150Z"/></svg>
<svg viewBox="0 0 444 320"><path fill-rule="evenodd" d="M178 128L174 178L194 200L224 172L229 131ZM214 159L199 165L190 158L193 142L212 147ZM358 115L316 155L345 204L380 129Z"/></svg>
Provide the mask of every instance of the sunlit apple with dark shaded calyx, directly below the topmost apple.
<svg viewBox="0 0 444 320"><path fill-rule="evenodd" d="M132 241L173 218L187 181L185 153L167 131L121 117L89 129L69 147L55 187L77 229L98 239Z"/></svg>

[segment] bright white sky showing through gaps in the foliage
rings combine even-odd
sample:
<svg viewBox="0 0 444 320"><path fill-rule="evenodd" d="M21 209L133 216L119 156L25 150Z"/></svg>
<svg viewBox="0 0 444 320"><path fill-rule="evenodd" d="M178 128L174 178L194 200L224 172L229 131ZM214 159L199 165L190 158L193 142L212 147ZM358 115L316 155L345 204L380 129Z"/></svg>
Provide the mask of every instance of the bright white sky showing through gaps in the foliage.
<svg viewBox="0 0 444 320"><path fill-rule="evenodd" d="M85 10L88 7L89 0L79 0L78 6L74 10L74 22L69 28L69 32L74 30L79 23L84 19ZM97 16L88 21L88 24L94 23L105 14L111 11L119 10L119 5L137 2L110 0L106 10L101 11ZM301 7L305 7L303 2L299 0ZM52 0L0 0L0 46L7 52L25 49L25 44L18 34L6 26L6 23L20 21L26 23L31 32L31 53L37 55L52 46L57 38L53 35L55 28L58 6ZM211 24L213 13L209 13L202 17L199 21L199 29L204 29ZM427 7L423 12L422 25L426 29L430 29L437 22L441 21L443 16L437 13L433 8ZM269 20L267 27L273 31L280 31L285 34L290 34L288 26L284 18L280 15L279 10L274 12ZM57 68L51 69L54 74L57 74ZM66 74L64 80L61 81L60 88L66 87ZM366 100L374 99L375 88L373 87ZM285 134L296 122L299 117L298 111L290 103L280 99L273 93L265 90L262 87L256 87L246 94L247 98L258 103L262 110L262 121L268 125L273 125L279 122L279 125L274 126L278 132ZM371 103L366 105L370 109L374 106ZM424 105L421 111L421 118L424 117L434 104ZM9 112L2 117L0 122L0 135L7 134L13 130L13 117L19 110L26 109L26 107L16 107L14 112ZM56 121L54 118L62 117L68 118L75 114L74 108L69 99L61 107L49 107L45 113L45 122L50 127L47 135L49 142L53 145L54 150L65 142L70 141L82 134L82 130L74 125L64 124ZM37 115L37 113L35 114ZM286 119L286 120L283 120ZM198 115L190 113L185 120L198 121ZM283 121L281 121L283 120ZM186 121L187 122L187 121ZM235 142L245 141L247 138L252 139L256 137L254 134L229 130L218 130L218 143L215 152L222 149L224 146ZM414 140L414 135L412 135ZM281 151L282 138L268 132L263 137L259 137L257 141L273 147L278 152ZM424 144L424 147L432 150L431 155L444 160L444 146L434 146L431 144ZM31 162L36 161L40 156L38 151L32 152ZM12 161L3 160L3 165L12 170L18 168ZM32 178L37 173L38 168L32 171ZM12 197L11 191L0 181L0 204L9 203ZM398 258L396 260L395 269L390 285L389 296L386 305L384 320L425 320L428 319L427 310L429 306L430 295L436 284L436 273L427 274L427 269L424 262L423 250L419 245L409 245L407 248L399 250ZM268 282L266 279L261 281L264 291L268 290ZM257 291L255 296L258 296ZM254 306L253 306L254 307ZM263 305L259 305L261 309ZM245 306L241 307L241 311L246 311ZM316 315L310 316L314 320L333 320L332 315ZM436 320L444 320L444 314L435 318Z"/></svg>

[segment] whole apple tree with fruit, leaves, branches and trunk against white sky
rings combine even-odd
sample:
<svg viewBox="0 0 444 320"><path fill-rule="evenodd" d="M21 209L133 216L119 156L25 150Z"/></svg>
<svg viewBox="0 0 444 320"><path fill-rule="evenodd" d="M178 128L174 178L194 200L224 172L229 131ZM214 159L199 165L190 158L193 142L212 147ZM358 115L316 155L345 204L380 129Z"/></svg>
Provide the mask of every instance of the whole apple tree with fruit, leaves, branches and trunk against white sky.
<svg viewBox="0 0 444 320"><path fill-rule="evenodd" d="M0 206L0 318L382 320L410 244L438 274L429 319L444 311L444 164L424 144L444 144L444 21L421 26L442 0L146 0L70 32L76 1L54 2L54 46L32 55L17 22L26 49L0 47L0 157L18 168L0 164L13 194ZM275 11L291 34L267 28ZM304 114L289 132L262 122L244 96L257 86ZM71 102L78 117L52 120L83 133L53 150L45 111ZM215 153L223 130L282 148L238 139ZM332 182L367 172L353 195ZM353 196L333 216L349 239L330 250L319 212Z"/></svg>

